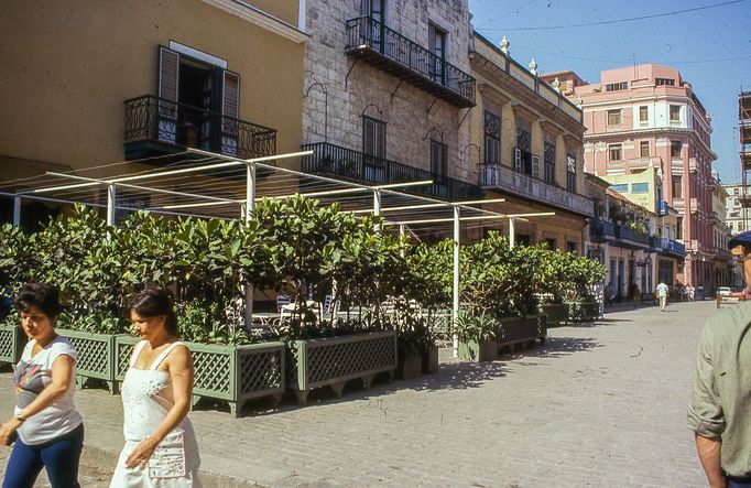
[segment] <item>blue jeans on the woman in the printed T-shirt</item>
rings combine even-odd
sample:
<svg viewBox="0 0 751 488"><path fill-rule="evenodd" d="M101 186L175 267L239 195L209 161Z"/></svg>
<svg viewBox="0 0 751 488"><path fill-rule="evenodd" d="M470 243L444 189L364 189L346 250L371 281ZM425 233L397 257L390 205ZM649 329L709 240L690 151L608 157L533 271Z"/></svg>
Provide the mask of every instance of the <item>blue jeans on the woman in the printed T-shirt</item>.
<svg viewBox="0 0 751 488"><path fill-rule="evenodd" d="M42 467L53 488L79 488L78 460L84 447L84 424L53 441L26 445L15 440L2 488L32 488Z"/></svg>

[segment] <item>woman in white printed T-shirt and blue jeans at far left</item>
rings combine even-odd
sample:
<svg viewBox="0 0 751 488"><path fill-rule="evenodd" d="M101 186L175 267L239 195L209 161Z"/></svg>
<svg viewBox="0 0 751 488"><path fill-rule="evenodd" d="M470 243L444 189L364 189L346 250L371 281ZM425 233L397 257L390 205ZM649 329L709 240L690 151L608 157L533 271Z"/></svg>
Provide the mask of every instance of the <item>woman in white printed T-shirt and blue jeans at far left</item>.
<svg viewBox="0 0 751 488"><path fill-rule="evenodd" d="M73 402L77 355L55 333L58 291L26 283L13 304L30 340L13 372L18 394L13 416L0 426L0 444L15 442L2 486L31 488L44 467L53 488L78 487L84 423Z"/></svg>

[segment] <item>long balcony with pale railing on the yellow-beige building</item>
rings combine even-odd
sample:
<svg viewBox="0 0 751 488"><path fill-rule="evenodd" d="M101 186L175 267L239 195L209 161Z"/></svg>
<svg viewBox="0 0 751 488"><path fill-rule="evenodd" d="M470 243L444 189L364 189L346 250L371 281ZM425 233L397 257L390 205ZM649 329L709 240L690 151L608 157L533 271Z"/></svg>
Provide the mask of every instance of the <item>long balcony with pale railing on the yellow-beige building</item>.
<svg viewBox="0 0 751 488"><path fill-rule="evenodd" d="M500 163L483 163L482 187L497 188L534 203L548 205L585 217L595 215L591 199L554 186L527 174L518 173Z"/></svg>

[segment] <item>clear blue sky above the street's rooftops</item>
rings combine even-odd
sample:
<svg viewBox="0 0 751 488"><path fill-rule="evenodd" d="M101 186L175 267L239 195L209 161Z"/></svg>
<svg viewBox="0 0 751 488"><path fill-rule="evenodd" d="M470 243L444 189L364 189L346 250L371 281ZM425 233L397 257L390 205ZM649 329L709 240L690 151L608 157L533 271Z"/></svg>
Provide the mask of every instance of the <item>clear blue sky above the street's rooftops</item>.
<svg viewBox="0 0 751 488"><path fill-rule="evenodd" d="M714 164L723 183L740 181L738 94L751 91L751 0L607 25L577 25L675 12L729 0L469 0L475 29L542 73L572 69L590 83L635 61L681 71L712 118ZM524 29L524 30L514 30Z"/></svg>

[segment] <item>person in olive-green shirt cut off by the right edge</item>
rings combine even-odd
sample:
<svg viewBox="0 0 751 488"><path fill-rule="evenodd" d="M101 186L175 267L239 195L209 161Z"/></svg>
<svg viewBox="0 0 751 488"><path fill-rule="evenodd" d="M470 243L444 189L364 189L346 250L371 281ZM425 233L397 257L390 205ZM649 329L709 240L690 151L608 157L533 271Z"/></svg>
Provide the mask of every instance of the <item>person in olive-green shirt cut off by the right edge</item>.
<svg viewBox="0 0 751 488"><path fill-rule="evenodd" d="M751 286L751 231L730 239L743 247ZM751 303L718 312L699 339L688 427L710 487L751 487Z"/></svg>

